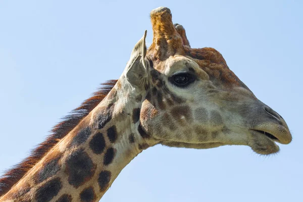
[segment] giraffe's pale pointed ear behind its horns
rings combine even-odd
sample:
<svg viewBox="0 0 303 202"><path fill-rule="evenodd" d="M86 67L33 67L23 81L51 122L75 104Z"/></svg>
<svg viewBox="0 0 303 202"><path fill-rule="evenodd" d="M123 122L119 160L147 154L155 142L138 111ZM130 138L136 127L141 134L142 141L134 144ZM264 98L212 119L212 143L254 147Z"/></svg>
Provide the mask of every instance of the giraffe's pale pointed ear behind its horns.
<svg viewBox="0 0 303 202"><path fill-rule="evenodd" d="M147 31L145 30L143 37L136 43L130 59L127 63L126 78L128 82L137 88L146 89L148 85L147 75L149 62L145 59L146 56L146 38Z"/></svg>

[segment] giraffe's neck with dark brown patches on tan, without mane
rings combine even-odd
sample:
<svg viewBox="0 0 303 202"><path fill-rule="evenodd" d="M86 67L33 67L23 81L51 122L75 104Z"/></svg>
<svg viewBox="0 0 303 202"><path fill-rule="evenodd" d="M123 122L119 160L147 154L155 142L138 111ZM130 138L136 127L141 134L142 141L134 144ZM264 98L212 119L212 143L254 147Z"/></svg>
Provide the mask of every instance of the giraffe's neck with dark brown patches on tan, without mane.
<svg viewBox="0 0 303 202"><path fill-rule="evenodd" d="M121 83L127 83L123 77L0 201L98 201L121 170L155 144L140 127L145 94Z"/></svg>

